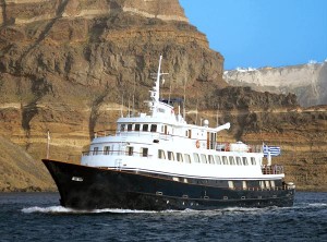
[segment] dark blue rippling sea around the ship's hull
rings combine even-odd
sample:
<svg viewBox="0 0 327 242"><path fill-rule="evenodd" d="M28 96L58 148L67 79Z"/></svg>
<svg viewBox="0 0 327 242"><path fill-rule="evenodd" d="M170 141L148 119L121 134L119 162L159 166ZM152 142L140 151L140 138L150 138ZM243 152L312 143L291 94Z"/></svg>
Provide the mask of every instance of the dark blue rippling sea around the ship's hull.
<svg viewBox="0 0 327 242"><path fill-rule="evenodd" d="M58 193L0 193L0 241L327 241L327 193L290 208L77 211Z"/></svg>

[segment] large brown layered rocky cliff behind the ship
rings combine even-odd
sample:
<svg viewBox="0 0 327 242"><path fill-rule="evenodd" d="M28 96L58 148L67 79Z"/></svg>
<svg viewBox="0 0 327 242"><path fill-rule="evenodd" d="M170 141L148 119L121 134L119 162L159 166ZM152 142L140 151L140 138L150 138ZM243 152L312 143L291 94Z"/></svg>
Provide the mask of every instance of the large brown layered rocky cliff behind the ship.
<svg viewBox="0 0 327 242"><path fill-rule="evenodd" d="M232 122L221 138L271 140L290 154L281 160L291 171L289 180L304 176L300 187L326 187L317 173L327 169L326 109L302 109L291 94L228 86L223 57L209 49L177 0L1 0L0 7L1 153L14 143L33 157L4 170L15 160L17 147L10 146L11 155L0 161L4 173L26 177L28 166L44 172L39 160L46 157L48 131L50 157L77 162L95 131L114 129L121 112L144 111L150 73L162 53L162 70L169 72L162 95L181 97L185 87L190 122L216 123L218 113L219 123ZM301 158L294 158L294 147ZM301 172L295 162L305 165ZM5 180L0 180L5 191L49 184Z"/></svg>

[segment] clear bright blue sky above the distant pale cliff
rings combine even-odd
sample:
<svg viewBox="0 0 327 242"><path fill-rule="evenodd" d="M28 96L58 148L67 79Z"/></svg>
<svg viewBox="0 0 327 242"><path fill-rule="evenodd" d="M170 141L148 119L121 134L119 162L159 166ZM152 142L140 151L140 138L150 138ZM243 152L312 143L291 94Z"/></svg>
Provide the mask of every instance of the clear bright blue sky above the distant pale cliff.
<svg viewBox="0 0 327 242"><path fill-rule="evenodd" d="M327 59L327 0L179 0L225 70Z"/></svg>

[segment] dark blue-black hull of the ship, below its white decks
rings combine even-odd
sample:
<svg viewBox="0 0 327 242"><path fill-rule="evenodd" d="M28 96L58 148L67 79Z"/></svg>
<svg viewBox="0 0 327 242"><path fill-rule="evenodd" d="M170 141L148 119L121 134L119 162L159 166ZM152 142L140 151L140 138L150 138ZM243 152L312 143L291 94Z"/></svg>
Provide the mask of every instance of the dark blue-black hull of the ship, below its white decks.
<svg viewBox="0 0 327 242"><path fill-rule="evenodd" d="M47 159L43 161L58 186L61 205L75 209L289 207L293 205L294 198L294 189L286 186L266 190L229 189L222 187L219 181L216 181L219 185L214 185L207 180L175 181L155 174L90 168Z"/></svg>

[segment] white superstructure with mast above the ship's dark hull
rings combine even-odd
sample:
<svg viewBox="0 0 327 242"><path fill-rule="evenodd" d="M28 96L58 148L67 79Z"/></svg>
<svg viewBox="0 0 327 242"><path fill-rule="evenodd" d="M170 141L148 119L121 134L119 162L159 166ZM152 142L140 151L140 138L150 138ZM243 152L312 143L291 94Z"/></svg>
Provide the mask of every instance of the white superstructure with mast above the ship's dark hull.
<svg viewBox="0 0 327 242"><path fill-rule="evenodd" d="M148 100L149 113L122 117L114 135L99 133L81 164L89 167L132 170L173 177L211 180L276 180L283 178L278 166L264 166L264 154L242 142L218 144L218 133L230 123L209 128L187 124L180 106L159 99L161 57L154 88Z"/></svg>

